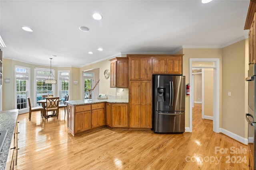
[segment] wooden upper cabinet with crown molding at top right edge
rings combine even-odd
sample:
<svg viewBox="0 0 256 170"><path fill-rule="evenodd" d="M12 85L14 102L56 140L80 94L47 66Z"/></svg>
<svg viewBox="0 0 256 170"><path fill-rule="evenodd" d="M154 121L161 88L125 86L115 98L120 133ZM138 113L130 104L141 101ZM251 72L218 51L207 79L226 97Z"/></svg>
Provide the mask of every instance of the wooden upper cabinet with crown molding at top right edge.
<svg viewBox="0 0 256 170"><path fill-rule="evenodd" d="M255 23L256 2L250 1L244 29L249 29L249 67L256 63L256 23Z"/></svg>

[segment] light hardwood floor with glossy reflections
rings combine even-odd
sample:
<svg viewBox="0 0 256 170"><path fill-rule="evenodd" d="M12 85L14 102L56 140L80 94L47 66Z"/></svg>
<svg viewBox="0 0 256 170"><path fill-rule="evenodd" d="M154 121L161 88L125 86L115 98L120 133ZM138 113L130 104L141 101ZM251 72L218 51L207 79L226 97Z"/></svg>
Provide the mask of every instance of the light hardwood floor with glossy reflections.
<svg viewBox="0 0 256 170"><path fill-rule="evenodd" d="M212 121L201 119L200 109L200 104L194 107L192 133L156 134L104 127L76 137L67 130L64 109L58 119L48 118L48 121L40 118L40 112L32 113L31 121L28 113L21 114L18 115L20 150L16 169L248 169L247 145L214 133ZM226 152L220 153L216 147Z"/></svg>

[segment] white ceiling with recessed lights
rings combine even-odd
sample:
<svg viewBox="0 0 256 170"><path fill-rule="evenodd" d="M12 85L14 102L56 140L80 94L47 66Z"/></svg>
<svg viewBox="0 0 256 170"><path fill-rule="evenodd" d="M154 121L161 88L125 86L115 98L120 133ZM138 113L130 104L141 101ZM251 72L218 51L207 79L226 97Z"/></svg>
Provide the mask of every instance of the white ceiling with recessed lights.
<svg viewBox="0 0 256 170"><path fill-rule="evenodd" d="M2 50L7 59L49 65L53 58L52 66L81 67L120 53L174 53L182 45L223 47L248 35L249 2L0 0ZM95 12L102 20L92 18ZM90 31L80 31L80 26Z"/></svg>

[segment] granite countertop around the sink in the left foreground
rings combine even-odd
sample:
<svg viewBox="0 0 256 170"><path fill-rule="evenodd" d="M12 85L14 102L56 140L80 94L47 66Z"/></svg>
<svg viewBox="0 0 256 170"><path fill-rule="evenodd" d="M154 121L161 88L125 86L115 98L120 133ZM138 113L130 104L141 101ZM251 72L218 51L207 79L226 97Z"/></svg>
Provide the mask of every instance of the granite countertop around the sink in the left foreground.
<svg viewBox="0 0 256 170"><path fill-rule="evenodd" d="M19 109L0 111L0 131L8 130L3 147L0 151L0 170L5 169L12 142L12 135L14 133L14 128L18 117L18 110Z"/></svg>

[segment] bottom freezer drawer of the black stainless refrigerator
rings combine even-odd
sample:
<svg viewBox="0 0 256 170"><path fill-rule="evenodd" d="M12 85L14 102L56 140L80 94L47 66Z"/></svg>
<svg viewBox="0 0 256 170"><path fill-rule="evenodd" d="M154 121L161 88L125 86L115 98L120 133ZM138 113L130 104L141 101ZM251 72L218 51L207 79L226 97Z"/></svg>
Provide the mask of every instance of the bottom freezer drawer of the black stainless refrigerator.
<svg viewBox="0 0 256 170"><path fill-rule="evenodd" d="M155 111L155 133L183 133L185 131L185 111Z"/></svg>

